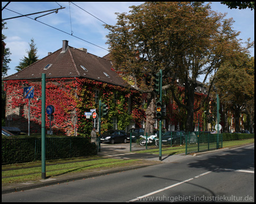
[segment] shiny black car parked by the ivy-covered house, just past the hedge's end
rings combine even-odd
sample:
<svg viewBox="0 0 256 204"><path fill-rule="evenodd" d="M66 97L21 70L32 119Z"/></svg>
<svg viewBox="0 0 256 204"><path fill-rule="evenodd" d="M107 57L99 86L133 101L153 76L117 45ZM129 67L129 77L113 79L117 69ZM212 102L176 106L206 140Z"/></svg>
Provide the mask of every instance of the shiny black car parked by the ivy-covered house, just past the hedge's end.
<svg viewBox="0 0 256 204"><path fill-rule="evenodd" d="M101 142L114 144L116 142L126 143L127 134L123 130L108 130L101 135Z"/></svg>

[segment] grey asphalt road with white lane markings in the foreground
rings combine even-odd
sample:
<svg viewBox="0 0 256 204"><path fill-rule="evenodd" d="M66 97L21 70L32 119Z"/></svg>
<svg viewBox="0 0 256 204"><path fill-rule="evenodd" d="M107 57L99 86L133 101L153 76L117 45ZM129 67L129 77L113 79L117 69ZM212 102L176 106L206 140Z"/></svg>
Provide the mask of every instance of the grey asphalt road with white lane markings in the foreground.
<svg viewBox="0 0 256 204"><path fill-rule="evenodd" d="M207 201L254 202L254 144L2 195L2 202Z"/></svg>

